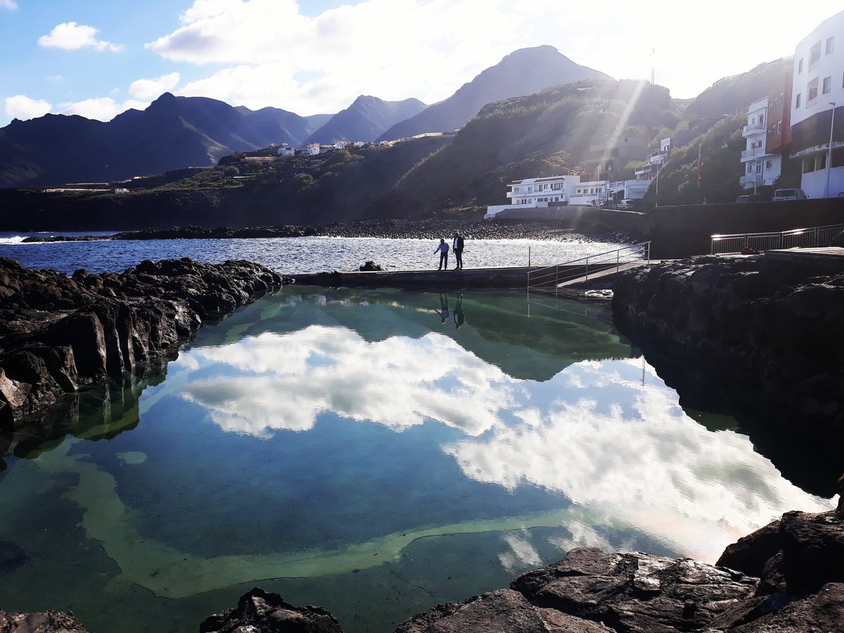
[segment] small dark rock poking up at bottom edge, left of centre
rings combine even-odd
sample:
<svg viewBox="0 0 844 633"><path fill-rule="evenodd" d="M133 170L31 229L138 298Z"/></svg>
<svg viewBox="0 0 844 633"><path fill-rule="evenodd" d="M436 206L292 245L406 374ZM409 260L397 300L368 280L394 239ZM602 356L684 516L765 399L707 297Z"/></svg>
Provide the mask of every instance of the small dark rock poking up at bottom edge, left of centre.
<svg viewBox="0 0 844 633"><path fill-rule="evenodd" d="M235 609L212 615L200 633L343 633L334 616L320 607L295 607L278 593L259 587L245 593Z"/></svg>

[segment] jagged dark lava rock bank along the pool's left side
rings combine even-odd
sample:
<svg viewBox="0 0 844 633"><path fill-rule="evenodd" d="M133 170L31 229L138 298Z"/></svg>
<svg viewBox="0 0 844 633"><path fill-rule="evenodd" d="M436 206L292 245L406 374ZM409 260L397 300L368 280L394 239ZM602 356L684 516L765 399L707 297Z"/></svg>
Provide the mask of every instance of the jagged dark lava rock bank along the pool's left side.
<svg viewBox="0 0 844 633"><path fill-rule="evenodd" d="M0 258L0 430L65 394L160 370L204 322L289 281L243 261L143 261L68 277Z"/></svg>

